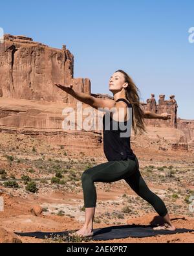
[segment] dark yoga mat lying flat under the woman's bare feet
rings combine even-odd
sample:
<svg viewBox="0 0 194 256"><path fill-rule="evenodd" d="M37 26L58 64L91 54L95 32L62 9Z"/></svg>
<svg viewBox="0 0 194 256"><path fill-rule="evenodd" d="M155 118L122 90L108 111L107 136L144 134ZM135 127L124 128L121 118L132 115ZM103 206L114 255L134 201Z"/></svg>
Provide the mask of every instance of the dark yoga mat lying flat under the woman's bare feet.
<svg viewBox="0 0 194 256"><path fill-rule="evenodd" d="M94 229L94 235L91 237L92 240L109 240L109 239L125 239L126 237L153 237L155 235L171 235L176 233L194 232L194 229L177 228L175 231L169 230L153 230L155 226L143 226L143 225L122 225L122 226L111 226ZM56 237L56 235L67 236L72 231L63 232L29 232L29 233L16 233L22 237L36 237L38 239L45 239Z"/></svg>

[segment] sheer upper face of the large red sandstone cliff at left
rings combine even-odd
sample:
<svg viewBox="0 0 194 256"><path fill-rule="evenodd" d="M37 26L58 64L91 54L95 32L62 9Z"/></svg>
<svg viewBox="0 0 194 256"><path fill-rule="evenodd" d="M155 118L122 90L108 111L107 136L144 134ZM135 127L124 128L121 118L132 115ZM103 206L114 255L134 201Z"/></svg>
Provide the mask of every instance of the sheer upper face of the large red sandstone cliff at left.
<svg viewBox="0 0 194 256"><path fill-rule="evenodd" d="M0 43L0 97L74 103L53 83L70 84L91 93L88 78L73 78L74 56L66 49L54 49L25 36L6 34Z"/></svg>

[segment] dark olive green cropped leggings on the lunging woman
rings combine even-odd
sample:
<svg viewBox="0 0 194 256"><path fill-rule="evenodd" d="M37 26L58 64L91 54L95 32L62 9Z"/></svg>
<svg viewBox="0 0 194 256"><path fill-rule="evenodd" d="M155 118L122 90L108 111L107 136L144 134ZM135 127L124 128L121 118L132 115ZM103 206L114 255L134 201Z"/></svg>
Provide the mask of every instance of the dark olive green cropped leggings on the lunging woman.
<svg viewBox="0 0 194 256"><path fill-rule="evenodd" d="M166 205L155 193L149 190L139 170L138 159L109 161L85 170L81 176L85 208L96 207L94 182L114 182L124 179L131 189L151 204L160 216L167 214Z"/></svg>

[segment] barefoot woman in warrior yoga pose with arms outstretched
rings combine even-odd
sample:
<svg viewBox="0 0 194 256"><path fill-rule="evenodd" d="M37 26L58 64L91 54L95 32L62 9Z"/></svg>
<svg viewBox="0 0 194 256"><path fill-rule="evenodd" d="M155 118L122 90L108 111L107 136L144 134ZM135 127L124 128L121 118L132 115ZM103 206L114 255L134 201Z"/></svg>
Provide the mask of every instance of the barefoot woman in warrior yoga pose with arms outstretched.
<svg viewBox="0 0 194 256"><path fill-rule="evenodd" d="M139 131L146 132L144 118L149 119L170 119L171 115L162 113L158 115L151 111L144 111L140 106L138 88L127 73L122 70L114 72L109 80L109 91L113 93L113 100L99 99L74 91L72 85L63 86L56 84L60 89L69 93L74 98L89 104L92 108L105 108L109 113L109 129L105 129L105 115L103 115L103 150L107 157L107 162L96 165L95 167L85 170L81 176L83 187L83 199L85 206L85 224L84 226L71 235L87 237L93 235L93 219L96 207L96 188L94 182L114 182L124 179L131 189L141 198L151 204L156 213L164 218L164 226L154 227L154 229L175 230L167 213L164 202L146 185L139 170L138 159L131 150L130 135L121 137L124 129L114 130L113 126L120 123L126 124L129 121L128 113L131 108L132 128L135 135ZM125 126L126 127L126 126Z"/></svg>

